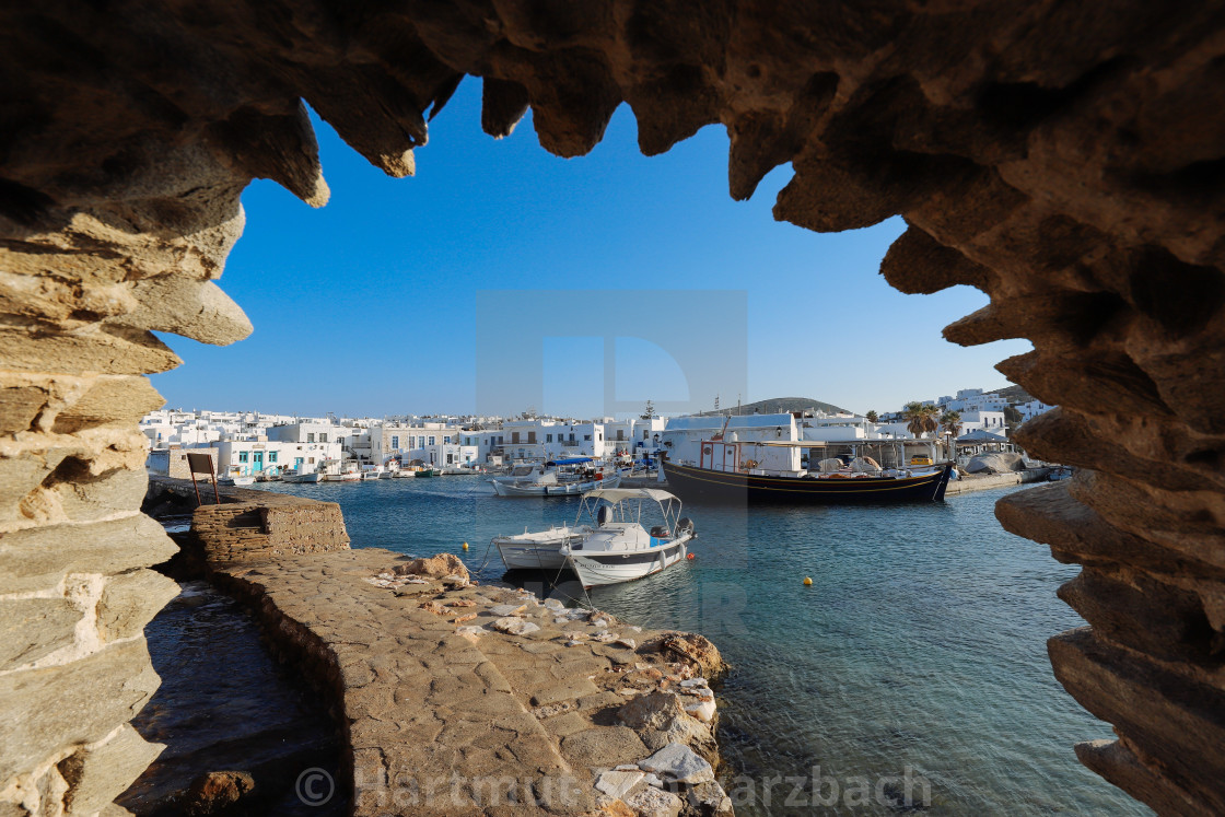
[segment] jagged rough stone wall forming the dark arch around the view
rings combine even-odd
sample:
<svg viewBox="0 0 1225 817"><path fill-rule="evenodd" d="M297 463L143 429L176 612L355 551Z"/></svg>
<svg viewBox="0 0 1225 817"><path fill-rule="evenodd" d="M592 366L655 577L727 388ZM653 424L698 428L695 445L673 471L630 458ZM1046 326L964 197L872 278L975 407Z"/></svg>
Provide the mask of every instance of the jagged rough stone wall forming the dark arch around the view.
<svg viewBox="0 0 1225 817"><path fill-rule="evenodd" d="M648 154L723 125L733 197L790 162L778 218L843 230L902 214L892 284L989 293L947 337L1031 339L1001 370L1062 408L1022 439L1083 468L1000 508L1085 566L1061 595L1091 628L1052 639L1051 659L1120 740L1080 757L1164 811L1225 811L1223 58L1219 4L1142 0L0 11L0 599L83 609L164 557L135 514L135 420L159 402L140 375L179 363L151 329L250 331L213 279L251 178L327 198L301 100L403 176L425 115L473 73L486 132L530 107L559 156L590 149L621 102ZM12 740L12 707L62 707L0 697L0 799L34 810L87 785L87 747L126 734L138 702L116 702L148 675L138 636L70 628L71 644L32 631L42 657L0 676L54 675L72 706L107 704L96 729L43 742ZM85 675L99 661L109 675Z"/></svg>

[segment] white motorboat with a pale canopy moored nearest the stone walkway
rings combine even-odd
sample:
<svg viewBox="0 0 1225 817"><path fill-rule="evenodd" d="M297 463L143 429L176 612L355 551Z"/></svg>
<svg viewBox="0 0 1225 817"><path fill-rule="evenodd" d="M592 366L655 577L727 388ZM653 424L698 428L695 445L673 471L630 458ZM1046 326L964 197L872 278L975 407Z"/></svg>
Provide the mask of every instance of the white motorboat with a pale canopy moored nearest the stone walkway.
<svg viewBox="0 0 1225 817"><path fill-rule="evenodd" d="M562 545L560 555L584 588L620 584L652 576L684 561L696 535L693 522L681 517L681 501L655 488L600 489L583 503L604 502L597 529L579 543ZM643 507L654 502L662 523L642 525Z"/></svg>

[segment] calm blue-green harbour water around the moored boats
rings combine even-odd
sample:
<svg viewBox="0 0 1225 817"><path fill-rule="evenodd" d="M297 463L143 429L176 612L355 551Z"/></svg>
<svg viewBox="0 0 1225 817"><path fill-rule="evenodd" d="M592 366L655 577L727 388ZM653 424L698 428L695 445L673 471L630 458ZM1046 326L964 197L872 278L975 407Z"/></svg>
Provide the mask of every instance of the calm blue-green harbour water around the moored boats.
<svg viewBox="0 0 1225 817"><path fill-rule="evenodd" d="M448 551L474 571L491 537L578 511L577 499L495 497L479 476L265 488L339 502L354 546ZM1072 752L1111 737L1046 658L1047 637L1084 623L1055 597L1077 568L1006 533L992 514L1002 494L895 508L686 506L696 559L592 600L647 627L702 632L731 664L719 741L737 813L889 813L905 810L908 788L921 801L924 784L937 815L1150 813ZM496 550L488 559L484 578L500 578Z"/></svg>

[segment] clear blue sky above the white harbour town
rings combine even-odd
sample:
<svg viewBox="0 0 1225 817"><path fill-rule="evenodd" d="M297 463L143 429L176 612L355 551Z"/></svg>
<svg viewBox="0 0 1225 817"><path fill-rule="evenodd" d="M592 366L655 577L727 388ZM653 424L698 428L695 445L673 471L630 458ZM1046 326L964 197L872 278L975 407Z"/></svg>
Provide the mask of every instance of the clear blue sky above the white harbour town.
<svg viewBox="0 0 1225 817"><path fill-rule="evenodd" d="M1005 386L993 364L1029 348L963 349L941 337L986 304L978 290L919 296L886 284L878 266L900 219L835 235L775 222L771 207L790 167L751 201L731 201L722 126L646 158L622 105L590 154L560 159L540 148L530 118L506 140L485 136L480 81L469 77L431 122L417 176L388 179L315 122L331 201L312 209L271 181L247 187L246 230L219 283L255 332L232 347L163 336L184 359L153 377L169 405L374 416L521 410L527 398L499 405L489 394L503 391L488 382L478 407L477 359L522 348L522 365L545 372L535 408L600 415L614 398L604 393L604 338L615 337L620 401L709 408L706 392L723 391L726 405L745 391L745 402L812 397L886 412ZM478 298L485 290L517 290L513 307L491 315ZM746 304L739 316L720 306L726 290ZM710 314L719 309L728 322ZM709 371L686 375L639 339L647 336L636 327L648 325L708 338ZM541 333L543 347L533 342Z"/></svg>

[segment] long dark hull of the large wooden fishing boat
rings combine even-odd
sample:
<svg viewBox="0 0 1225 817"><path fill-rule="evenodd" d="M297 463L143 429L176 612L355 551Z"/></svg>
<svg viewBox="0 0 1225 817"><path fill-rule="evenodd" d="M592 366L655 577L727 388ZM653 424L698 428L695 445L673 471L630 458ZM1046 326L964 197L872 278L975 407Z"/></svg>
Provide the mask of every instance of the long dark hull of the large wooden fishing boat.
<svg viewBox="0 0 1225 817"><path fill-rule="evenodd" d="M757 476L717 472L664 461L669 490L686 501L717 501L789 505L860 505L897 502L940 502L953 464L919 476L862 476L817 479Z"/></svg>

